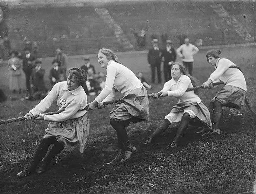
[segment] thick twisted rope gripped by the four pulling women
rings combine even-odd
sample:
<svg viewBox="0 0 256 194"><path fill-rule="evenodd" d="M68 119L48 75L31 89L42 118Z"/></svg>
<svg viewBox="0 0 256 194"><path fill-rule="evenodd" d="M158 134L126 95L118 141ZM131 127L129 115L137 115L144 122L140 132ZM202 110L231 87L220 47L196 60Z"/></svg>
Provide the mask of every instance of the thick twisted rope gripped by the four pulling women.
<svg viewBox="0 0 256 194"><path fill-rule="evenodd" d="M220 84L223 84L223 82L216 82L216 83L213 83L214 86L216 85L220 85ZM196 89L200 89L200 88L203 88L203 86L196 86L196 87L193 87L193 88L188 88L186 90L186 92L189 92L189 91L193 91L193 90L196 90ZM158 93L158 96L160 96L161 93ZM154 96L154 94L148 94L148 98L152 98ZM120 100L120 99L119 99ZM110 105L110 104L115 104L117 103L119 100L111 100L111 101L107 101L107 102L103 102L103 105L106 106L106 105ZM87 110L88 109L88 106L86 106L84 109L81 109L79 111L82 111L82 110ZM60 111L56 111L56 112L50 112L50 113L43 113L44 115L54 115L54 114L59 114ZM37 118L38 115L31 115L31 118ZM0 125L1 124L7 124L7 123L12 123L12 122L16 122L16 121L24 121L26 120L26 118L24 116L22 117L17 117L17 118L10 118L10 119L7 119L7 120L2 120L0 121Z"/></svg>

